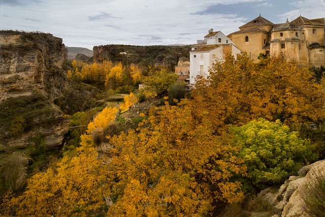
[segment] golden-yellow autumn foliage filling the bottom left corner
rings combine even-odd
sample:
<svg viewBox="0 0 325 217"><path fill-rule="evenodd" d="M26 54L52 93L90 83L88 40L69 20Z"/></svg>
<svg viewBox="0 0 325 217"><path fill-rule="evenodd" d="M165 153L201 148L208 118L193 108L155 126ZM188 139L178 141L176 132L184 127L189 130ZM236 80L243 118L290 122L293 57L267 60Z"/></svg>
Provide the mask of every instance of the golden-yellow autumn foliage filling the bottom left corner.
<svg viewBox="0 0 325 217"><path fill-rule="evenodd" d="M26 191L5 201L2 216L94 216L104 214L105 168L90 136L45 172L32 176Z"/></svg>

